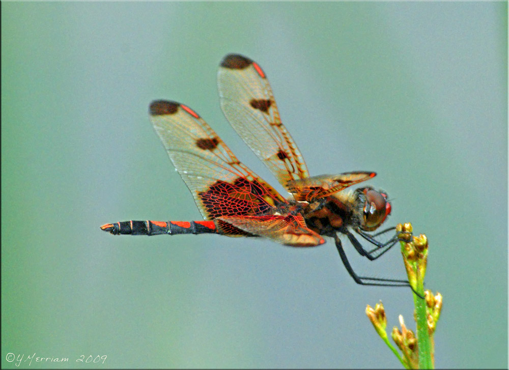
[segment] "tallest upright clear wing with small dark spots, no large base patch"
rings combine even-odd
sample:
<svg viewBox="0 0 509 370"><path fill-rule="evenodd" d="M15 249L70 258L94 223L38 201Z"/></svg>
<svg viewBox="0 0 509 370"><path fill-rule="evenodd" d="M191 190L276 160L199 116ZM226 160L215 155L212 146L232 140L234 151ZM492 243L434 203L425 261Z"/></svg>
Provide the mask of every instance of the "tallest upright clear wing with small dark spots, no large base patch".
<svg viewBox="0 0 509 370"><path fill-rule="evenodd" d="M309 176L292 136L281 123L269 81L260 66L239 54L222 60L217 86L224 116L251 150L287 188Z"/></svg>

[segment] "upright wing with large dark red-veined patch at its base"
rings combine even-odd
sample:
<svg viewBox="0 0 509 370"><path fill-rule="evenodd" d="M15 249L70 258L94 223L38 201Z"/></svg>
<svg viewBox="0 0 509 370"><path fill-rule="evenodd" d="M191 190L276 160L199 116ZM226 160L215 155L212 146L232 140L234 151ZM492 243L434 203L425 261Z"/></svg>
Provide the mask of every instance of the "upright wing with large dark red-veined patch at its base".
<svg viewBox="0 0 509 370"><path fill-rule="evenodd" d="M189 107L173 101L153 101L150 117L204 218L261 215L285 202L272 186L243 165Z"/></svg>

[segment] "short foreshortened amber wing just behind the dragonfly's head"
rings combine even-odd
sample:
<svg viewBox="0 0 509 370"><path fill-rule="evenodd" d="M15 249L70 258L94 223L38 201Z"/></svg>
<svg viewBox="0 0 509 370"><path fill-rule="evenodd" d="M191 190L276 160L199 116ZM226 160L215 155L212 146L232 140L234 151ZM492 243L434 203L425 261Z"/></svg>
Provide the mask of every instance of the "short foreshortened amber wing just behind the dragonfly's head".
<svg viewBox="0 0 509 370"><path fill-rule="evenodd" d="M294 194L296 201L311 203L376 175L375 172L346 172L340 175L314 176L290 181L288 190Z"/></svg>

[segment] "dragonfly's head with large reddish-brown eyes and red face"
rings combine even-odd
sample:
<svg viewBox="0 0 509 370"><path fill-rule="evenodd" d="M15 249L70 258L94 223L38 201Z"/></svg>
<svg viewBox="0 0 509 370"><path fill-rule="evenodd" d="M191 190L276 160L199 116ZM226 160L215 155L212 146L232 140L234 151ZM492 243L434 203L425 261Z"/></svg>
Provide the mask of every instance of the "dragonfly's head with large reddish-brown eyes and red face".
<svg viewBox="0 0 509 370"><path fill-rule="evenodd" d="M391 207L387 201L387 194L371 186L357 189L356 192L362 206L360 228L364 231L376 230L390 214Z"/></svg>

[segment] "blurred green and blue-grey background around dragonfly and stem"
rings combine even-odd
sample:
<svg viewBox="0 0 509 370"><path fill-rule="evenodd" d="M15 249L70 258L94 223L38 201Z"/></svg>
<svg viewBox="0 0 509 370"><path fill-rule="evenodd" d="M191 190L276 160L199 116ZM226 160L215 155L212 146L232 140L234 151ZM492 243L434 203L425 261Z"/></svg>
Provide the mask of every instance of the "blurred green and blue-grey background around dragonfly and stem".
<svg viewBox="0 0 509 370"><path fill-rule="evenodd" d="M2 2L2 367L401 366L364 309L413 327L410 290L358 286L330 240L99 229L200 219L153 99L276 184L219 108L231 52L264 68L312 175L375 170L387 224L428 236L437 367L506 368L506 2ZM370 263L345 245L359 273L404 277L397 247Z"/></svg>

